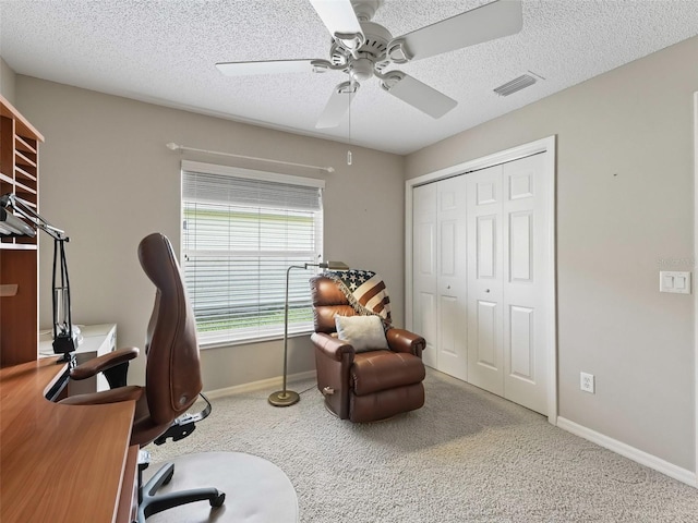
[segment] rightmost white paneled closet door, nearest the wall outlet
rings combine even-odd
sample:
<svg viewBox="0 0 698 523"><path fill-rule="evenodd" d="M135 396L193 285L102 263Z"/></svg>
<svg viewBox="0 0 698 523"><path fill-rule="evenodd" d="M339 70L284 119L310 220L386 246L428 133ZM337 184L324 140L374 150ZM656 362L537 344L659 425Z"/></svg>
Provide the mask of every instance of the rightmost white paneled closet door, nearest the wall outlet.
<svg viewBox="0 0 698 523"><path fill-rule="evenodd" d="M544 242L550 197L542 183L543 155L504 167L504 397L547 412Z"/></svg>

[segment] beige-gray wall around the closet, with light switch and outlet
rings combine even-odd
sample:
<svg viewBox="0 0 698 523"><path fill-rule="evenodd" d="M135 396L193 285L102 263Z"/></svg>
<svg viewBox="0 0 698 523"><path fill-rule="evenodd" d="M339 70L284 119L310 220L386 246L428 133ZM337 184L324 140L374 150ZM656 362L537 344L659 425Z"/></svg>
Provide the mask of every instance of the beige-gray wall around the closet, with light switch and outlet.
<svg viewBox="0 0 698 523"><path fill-rule="evenodd" d="M689 471L694 296L658 281L695 268L696 57L693 38L406 158L410 179L557 135L559 415Z"/></svg>

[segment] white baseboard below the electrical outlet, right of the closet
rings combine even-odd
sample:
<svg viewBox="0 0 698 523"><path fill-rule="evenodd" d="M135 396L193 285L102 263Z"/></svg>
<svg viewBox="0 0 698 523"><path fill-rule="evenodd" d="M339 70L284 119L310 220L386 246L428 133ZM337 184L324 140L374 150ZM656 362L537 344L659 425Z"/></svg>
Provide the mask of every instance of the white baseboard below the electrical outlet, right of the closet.
<svg viewBox="0 0 698 523"><path fill-rule="evenodd" d="M636 463L639 463L640 465L653 469L657 472L661 472L662 474L673 477L674 479L685 483L686 485L689 485L691 487L698 487L698 476L695 472L682 469L681 466L676 466L667 461L662 460L661 458L648 454L642 450L636 449L635 447L630 447L629 445L604 436L603 434L597 433L595 430L578 425L575 422L570 422L569 419L566 419L562 416L557 416L557 426L564 430L567 430L568 433L574 434L575 436L579 436L580 438L585 438L605 449L612 450L616 454L621 454L629 460L635 461Z"/></svg>

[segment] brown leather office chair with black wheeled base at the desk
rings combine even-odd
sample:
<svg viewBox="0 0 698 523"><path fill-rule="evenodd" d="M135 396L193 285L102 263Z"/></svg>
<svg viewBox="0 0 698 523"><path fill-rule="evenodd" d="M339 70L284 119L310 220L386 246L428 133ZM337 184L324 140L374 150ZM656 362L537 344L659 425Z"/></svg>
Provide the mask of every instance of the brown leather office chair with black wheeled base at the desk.
<svg viewBox="0 0 698 523"><path fill-rule="evenodd" d="M139 245L139 259L157 289L145 342L145 387L117 387L69 397L61 403L84 405L135 400L131 445L142 448L152 441L163 442L168 436L181 439L191 434L195 418L188 416L186 411L198 398L203 386L196 323L169 240L159 233L144 238ZM75 367L71 378L84 379L115 366L128 365L128 361L137 354L135 348L119 349ZM139 466L139 523L152 514L181 504L208 500L212 507L217 508L226 499L226 495L216 488L157 496L158 488L172 478L174 464L164 465L143 485L145 466Z"/></svg>

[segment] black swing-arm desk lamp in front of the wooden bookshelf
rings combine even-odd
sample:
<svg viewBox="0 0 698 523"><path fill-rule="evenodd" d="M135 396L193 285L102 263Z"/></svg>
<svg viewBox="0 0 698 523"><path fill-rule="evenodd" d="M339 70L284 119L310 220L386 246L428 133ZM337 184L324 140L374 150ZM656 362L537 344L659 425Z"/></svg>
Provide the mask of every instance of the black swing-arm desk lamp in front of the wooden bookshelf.
<svg viewBox="0 0 698 523"><path fill-rule="evenodd" d="M62 354L61 362L72 361L72 353L77 349L77 337L73 331L70 305L70 281L68 263L65 262L65 242L70 239L65 232L51 226L26 202L13 193L0 197L0 233L20 236L35 236L35 229L43 230L53 239L53 353ZM28 224L9 212L12 210Z"/></svg>

